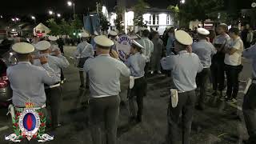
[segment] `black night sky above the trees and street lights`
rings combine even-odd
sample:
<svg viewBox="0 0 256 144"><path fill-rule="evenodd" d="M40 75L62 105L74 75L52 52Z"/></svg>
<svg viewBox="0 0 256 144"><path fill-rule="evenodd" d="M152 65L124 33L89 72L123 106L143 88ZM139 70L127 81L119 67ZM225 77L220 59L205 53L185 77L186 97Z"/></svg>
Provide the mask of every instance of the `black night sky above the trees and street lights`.
<svg viewBox="0 0 256 144"><path fill-rule="evenodd" d="M18 17L22 18L23 22L31 21L31 15L36 16L38 22L48 19L49 10L54 10L55 14L62 14L62 18L71 18L73 9L67 6L68 0L1 0L0 15L4 18L0 19L0 22L9 22L10 18ZM108 7L108 10L112 11L116 5L116 0L74 0L75 11L82 18L82 14L88 14L88 8L90 11L96 10L96 1L102 1L104 5ZM127 0L129 3L135 3L138 0ZM189 1L189 0L186 0ZM234 6L234 9L240 10L244 8L250 8L251 2L254 0L225 0L226 10L230 6ZM151 7L158 7L166 9L167 6L175 5L179 0L146 0ZM230 2L230 3L229 3Z"/></svg>

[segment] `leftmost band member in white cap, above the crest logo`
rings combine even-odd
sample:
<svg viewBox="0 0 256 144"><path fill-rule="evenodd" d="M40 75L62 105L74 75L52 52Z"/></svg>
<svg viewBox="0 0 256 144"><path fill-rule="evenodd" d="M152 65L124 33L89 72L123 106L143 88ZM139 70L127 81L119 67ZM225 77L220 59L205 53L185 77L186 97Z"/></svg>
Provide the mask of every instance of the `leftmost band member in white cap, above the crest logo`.
<svg viewBox="0 0 256 144"><path fill-rule="evenodd" d="M53 69L50 68L48 58L42 56L39 62L42 67L31 64L34 46L26 42L18 42L12 46L17 53L18 64L7 69L7 76L13 90L12 102L15 111L23 111L26 102L34 103L34 108L42 108L46 114L46 93L44 84L54 85L59 78Z"/></svg>

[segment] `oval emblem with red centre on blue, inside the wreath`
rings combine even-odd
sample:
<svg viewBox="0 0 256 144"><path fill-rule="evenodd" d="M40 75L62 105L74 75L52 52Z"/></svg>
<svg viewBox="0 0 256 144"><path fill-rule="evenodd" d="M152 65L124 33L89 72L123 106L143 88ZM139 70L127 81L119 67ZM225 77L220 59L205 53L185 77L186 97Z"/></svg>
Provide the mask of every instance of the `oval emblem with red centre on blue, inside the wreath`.
<svg viewBox="0 0 256 144"><path fill-rule="evenodd" d="M18 119L22 135L26 135L27 138L32 138L34 134L37 134L40 124L40 117L34 109L25 109Z"/></svg>

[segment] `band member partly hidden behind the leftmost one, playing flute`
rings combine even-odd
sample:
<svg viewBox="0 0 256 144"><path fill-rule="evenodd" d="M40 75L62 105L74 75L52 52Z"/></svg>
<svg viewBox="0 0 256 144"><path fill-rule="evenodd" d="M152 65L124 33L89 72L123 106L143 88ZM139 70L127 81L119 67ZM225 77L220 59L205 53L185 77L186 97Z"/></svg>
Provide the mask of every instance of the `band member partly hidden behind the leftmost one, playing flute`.
<svg viewBox="0 0 256 144"><path fill-rule="evenodd" d="M39 50L38 57L46 56L50 68L54 70L54 73L58 76L58 82L53 85L45 86L46 96L50 99L50 112L52 118L52 128L55 129L60 126L59 114L60 114L60 103L62 101L62 87L61 82L61 69L66 68L70 65L67 59L62 56L59 50L55 51L55 56L50 55L50 42L41 41L35 45L35 48ZM42 66L38 59L34 60L35 66Z"/></svg>

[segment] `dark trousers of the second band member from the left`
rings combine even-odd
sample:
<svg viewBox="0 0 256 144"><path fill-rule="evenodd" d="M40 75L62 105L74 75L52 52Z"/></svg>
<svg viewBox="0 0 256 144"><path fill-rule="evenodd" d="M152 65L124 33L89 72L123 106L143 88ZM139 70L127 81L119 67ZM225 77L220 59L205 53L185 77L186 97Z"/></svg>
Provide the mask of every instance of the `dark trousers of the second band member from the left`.
<svg viewBox="0 0 256 144"><path fill-rule="evenodd" d="M58 86L46 89L46 97L47 104L50 106L51 125L54 128L59 124L60 106L62 101L62 87Z"/></svg>

